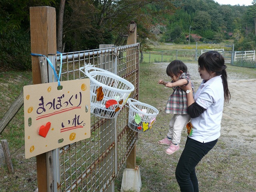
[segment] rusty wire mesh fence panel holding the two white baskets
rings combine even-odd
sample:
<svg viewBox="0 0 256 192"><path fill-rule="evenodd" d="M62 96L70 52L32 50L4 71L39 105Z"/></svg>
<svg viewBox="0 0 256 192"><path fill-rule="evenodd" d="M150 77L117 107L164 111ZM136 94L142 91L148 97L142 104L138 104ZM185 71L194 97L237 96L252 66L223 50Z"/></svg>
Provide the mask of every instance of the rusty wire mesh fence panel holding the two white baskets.
<svg viewBox="0 0 256 192"><path fill-rule="evenodd" d="M56 71L66 81L88 78L79 70L88 64L102 68L131 82L130 97L138 99L138 56L139 44L56 54ZM127 126L128 111L123 106L112 119L91 113L90 138L56 150L56 191L102 192L110 186L138 139Z"/></svg>

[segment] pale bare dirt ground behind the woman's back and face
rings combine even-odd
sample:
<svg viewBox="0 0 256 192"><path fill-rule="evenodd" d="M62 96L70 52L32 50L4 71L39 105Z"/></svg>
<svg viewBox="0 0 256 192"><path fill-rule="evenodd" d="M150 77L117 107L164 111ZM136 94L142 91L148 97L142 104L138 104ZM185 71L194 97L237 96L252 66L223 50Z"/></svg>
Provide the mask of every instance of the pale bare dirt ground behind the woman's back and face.
<svg viewBox="0 0 256 192"><path fill-rule="evenodd" d="M197 68L194 64L186 65L195 86L199 86L202 79ZM221 134L230 136L230 142L250 145L256 150L256 75L254 79L249 79L246 76L229 73L228 70L227 73L231 99L224 105Z"/></svg>

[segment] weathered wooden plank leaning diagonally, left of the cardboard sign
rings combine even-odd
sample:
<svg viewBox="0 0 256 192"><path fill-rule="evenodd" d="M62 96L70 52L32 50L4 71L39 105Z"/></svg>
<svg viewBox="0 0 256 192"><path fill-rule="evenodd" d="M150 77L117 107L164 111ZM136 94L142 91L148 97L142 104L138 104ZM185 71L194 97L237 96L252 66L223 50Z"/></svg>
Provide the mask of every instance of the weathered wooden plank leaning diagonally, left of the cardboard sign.
<svg viewBox="0 0 256 192"><path fill-rule="evenodd" d="M32 80L28 82L28 85L32 84ZM23 100L23 90L20 93L20 95L16 98L16 100L11 104L11 106L8 108L6 113L4 114L3 118L0 121L0 134L4 131L6 126L10 123L12 118L17 114L17 112L20 110L24 103Z"/></svg>

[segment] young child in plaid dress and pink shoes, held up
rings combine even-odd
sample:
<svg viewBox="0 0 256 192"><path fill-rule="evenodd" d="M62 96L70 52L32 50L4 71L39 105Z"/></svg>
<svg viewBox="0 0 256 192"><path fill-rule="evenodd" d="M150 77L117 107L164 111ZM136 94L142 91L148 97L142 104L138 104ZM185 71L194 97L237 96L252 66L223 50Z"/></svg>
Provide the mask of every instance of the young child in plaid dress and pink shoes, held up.
<svg viewBox="0 0 256 192"><path fill-rule="evenodd" d="M186 86L190 82L190 74L187 71L188 68L182 61L174 60L166 68L166 74L171 77L172 81L166 82L162 79L158 81L158 84L173 89L173 93L166 104L165 113L174 115L169 122L167 137L158 141L160 145L169 146L166 154L173 154L180 149L181 132L190 120L187 110L187 94L190 92L194 94L194 86L192 84L192 90L186 92L179 87Z"/></svg>

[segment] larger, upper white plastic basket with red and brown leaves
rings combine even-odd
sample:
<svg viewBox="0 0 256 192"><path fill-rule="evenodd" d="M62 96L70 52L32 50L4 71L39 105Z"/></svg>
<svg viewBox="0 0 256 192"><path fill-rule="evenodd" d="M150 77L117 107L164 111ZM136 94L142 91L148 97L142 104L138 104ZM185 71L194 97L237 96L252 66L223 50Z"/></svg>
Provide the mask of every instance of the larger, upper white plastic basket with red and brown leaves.
<svg viewBox="0 0 256 192"><path fill-rule="evenodd" d="M112 72L94 66L84 66L79 70L90 78L90 112L108 119L118 116L134 90L133 84ZM104 96L102 100L97 100L97 89L100 87Z"/></svg>

